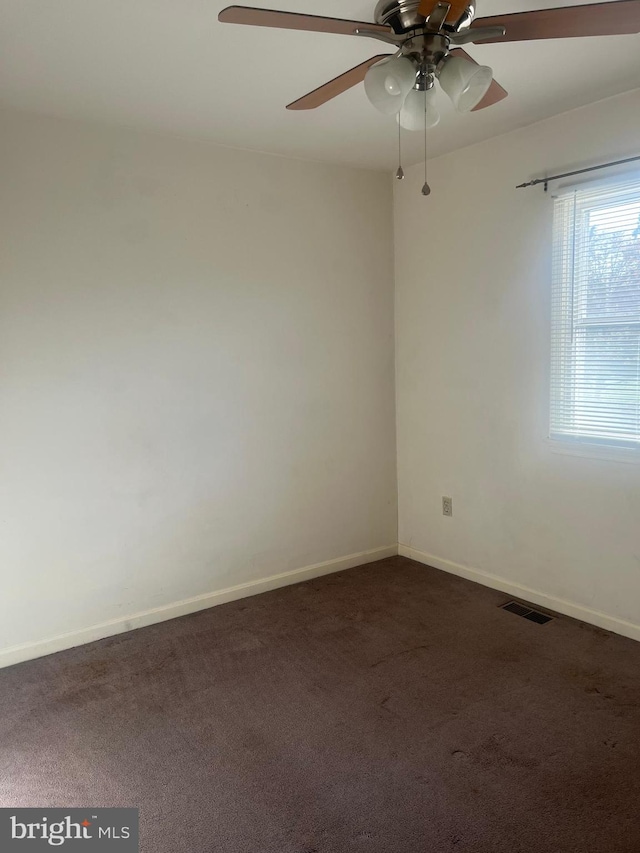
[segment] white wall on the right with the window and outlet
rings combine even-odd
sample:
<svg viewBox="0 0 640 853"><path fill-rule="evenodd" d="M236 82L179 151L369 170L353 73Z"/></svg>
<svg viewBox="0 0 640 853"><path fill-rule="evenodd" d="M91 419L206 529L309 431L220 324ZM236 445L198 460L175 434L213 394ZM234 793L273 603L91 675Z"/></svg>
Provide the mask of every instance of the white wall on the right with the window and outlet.
<svg viewBox="0 0 640 853"><path fill-rule="evenodd" d="M427 199L416 166L395 195L401 552L638 639L640 465L545 442L552 201L514 187L639 138L635 91L433 160Z"/></svg>

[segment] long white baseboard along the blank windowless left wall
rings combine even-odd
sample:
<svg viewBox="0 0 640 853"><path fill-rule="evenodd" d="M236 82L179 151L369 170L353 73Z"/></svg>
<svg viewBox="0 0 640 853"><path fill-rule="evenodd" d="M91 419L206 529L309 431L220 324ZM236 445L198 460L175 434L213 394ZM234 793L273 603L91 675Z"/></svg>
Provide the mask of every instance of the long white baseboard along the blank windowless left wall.
<svg viewBox="0 0 640 853"><path fill-rule="evenodd" d="M313 566L305 566L302 569L294 569L292 572L283 572L272 575L261 580L241 583L217 592L208 592L188 598L184 601L176 601L164 607L156 607L153 610L145 610L122 619L114 619L103 622L100 625L92 625L82 628L80 631L72 631L69 634L61 634L48 640L39 640L35 643L25 643L21 646L12 646L0 649L0 669L12 666L23 661L51 655L64 649L72 649L94 640L102 640L105 637L113 637L123 634L125 631L133 631L135 628L144 628L147 625L155 625L157 622L165 622L178 616L187 616L189 613L197 613L199 610L207 610L218 604L226 604L228 601L236 601L239 598L248 598L258 595L270 589L289 586L301 581L328 575L332 572L341 572L344 569L352 569L365 563L373 563L383 560L385 557L394 557L398 553L397 545L386 545L382 548L374 548L371 551L361 551L359 554L349 554L347 557L338 557L335 560L327 560L324 563L316 563Z"/></svg>

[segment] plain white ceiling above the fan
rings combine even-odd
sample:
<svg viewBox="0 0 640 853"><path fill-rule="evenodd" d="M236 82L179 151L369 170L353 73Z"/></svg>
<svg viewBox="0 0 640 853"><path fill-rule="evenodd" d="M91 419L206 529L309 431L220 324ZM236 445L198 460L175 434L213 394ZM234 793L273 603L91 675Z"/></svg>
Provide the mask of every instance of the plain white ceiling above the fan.
<svg viewBox="0 0 640 853"><path fill-rule="evenodd" d="M481 16L583 0L478 0ZM376 169L396 164L393 119L362 86L318 110L290 101L387 51L368 39L219 24L220 0L0 0L0 104ZM371 20L375 0L249 0ZM388 48L391 50L391 48ZM456 114L441 93L430 156L640 86L640 36L469 47L510 97ZM410 138L409 138L410 137ZM407 134L405 160L421 157Z"/></svg>

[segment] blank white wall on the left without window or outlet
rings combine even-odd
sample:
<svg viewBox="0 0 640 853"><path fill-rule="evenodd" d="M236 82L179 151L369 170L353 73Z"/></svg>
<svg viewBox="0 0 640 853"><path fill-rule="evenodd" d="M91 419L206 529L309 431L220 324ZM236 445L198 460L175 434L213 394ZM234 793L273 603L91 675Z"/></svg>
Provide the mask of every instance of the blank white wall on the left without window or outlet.
<svg viewBox="0 0 640 853"><path fill-rule="evenodd" d="M387 176L0 122L0 663L395 546Z"/></svg>

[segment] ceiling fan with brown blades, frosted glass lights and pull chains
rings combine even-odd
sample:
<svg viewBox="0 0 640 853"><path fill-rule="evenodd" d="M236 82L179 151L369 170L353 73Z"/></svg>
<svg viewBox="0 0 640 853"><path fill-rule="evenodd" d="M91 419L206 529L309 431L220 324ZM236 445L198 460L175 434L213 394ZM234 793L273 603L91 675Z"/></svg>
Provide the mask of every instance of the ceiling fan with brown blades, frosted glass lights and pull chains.
<svg viewBox="0 0 640 853"><path fill-rule="evenodd" d="M315 109L364 81L367 97L376 109L396 115L407 130L424 128L426 135L426 128L440 118L434 102L436 80L460 112L482 110L507 97L507 91L493 79L492 69L478 65L462 45L638 33L640 0L490 18L476 18L476 0L379 0L374 19L375 23L362 23L248 6L229 6L218 16L228 24L359 36L392 45L394 54L373 56L287 109ZM428 191L426 181L425 189Z"/></svg>

